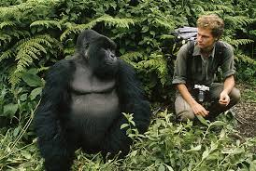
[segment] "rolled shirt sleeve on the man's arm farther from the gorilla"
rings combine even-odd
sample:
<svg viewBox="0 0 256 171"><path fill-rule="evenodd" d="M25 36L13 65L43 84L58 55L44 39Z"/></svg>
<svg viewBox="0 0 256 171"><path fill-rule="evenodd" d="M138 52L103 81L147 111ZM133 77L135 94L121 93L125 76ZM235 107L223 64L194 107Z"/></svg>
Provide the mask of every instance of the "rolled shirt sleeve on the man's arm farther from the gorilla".
<svg viewBox="0 0 256 171"><path fill-rule="evenodd" d="M235 61L232 46L225 44L223 62L220 66L224 79L235 74Z"/></svg>

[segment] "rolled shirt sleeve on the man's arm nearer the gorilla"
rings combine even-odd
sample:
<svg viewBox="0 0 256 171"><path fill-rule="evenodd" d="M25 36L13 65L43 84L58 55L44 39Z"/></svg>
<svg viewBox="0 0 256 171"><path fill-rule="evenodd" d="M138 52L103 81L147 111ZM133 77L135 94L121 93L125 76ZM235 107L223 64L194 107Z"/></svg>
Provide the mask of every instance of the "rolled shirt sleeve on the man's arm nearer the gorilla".
<svg viewBox="0 0 256 171"><path fill-rule="evenodd" d="M187 44L180 47L175 62L172 84L186 84L187 80Z"/></svg>

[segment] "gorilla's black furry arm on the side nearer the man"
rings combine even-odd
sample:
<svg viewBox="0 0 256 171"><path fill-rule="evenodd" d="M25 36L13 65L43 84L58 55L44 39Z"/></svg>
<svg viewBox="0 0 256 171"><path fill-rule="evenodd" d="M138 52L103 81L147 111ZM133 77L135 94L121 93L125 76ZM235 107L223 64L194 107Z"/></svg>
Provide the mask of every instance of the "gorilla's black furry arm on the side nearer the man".
<svg viewBox="0 0 256 171"><path fill-rule="evenodd" d="M135 70L121 60L118 91L121 99L121 112L134 113L135 126L140 134L146 132L150 123L149 101L135 77Z"/></svg>

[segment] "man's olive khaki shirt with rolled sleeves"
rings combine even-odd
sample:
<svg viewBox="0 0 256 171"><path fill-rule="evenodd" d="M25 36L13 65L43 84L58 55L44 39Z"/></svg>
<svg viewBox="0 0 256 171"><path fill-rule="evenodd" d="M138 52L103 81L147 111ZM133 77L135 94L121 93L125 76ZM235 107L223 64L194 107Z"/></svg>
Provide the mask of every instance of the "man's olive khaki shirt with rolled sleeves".
<svg viewBox="0 0 256 171"><path fill-rule="evenodd" d="M181 46L175 63L172 84L211 85L219 67L224 78L235 74L233 48L227 43L221 43L223 49L219 58L216 54L216 45L209 57L204 58L195 42L191 59L188 59L188 44Z"/></svg>

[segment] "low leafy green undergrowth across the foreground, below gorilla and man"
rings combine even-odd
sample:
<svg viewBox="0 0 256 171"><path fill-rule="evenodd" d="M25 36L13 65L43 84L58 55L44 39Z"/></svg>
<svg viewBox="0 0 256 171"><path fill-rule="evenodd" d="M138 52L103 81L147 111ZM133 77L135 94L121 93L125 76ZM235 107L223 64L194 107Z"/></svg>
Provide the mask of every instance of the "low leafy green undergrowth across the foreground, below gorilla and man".
<svg viewBox="0 0 256 171"><path fill-rule="evenodd" d="M135 143L124 159L104 163L102 155L78 150L73 170L248 170L256 169L256 138L240 138L225 115L220 121L176 123L173 114L158 112L145 135L131 131ZM36 148L17 141L14 129L1 134L0 170L43 170Z"/></svg>

